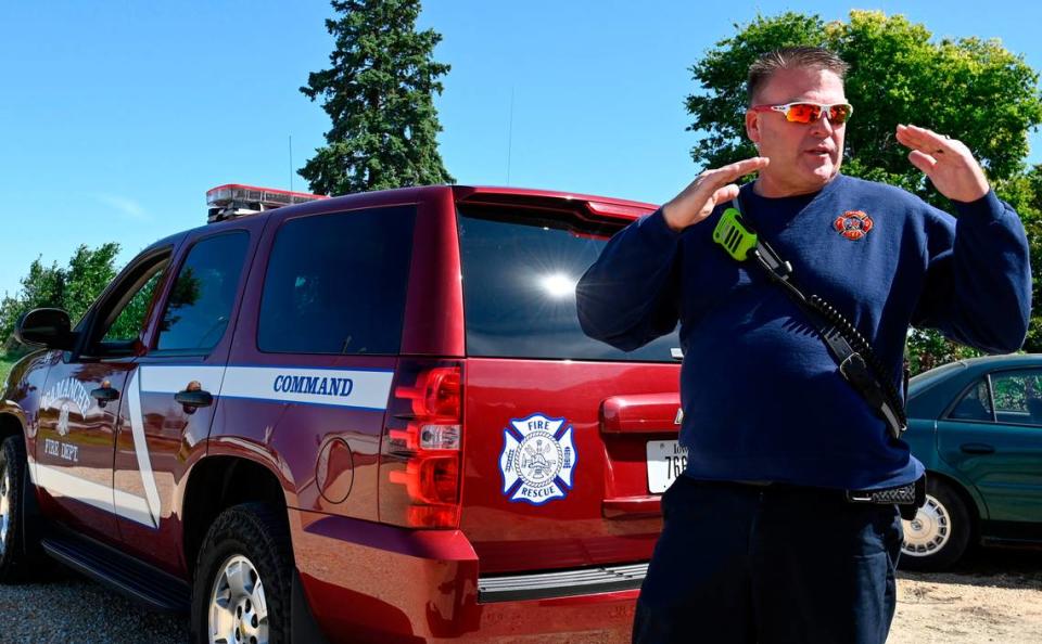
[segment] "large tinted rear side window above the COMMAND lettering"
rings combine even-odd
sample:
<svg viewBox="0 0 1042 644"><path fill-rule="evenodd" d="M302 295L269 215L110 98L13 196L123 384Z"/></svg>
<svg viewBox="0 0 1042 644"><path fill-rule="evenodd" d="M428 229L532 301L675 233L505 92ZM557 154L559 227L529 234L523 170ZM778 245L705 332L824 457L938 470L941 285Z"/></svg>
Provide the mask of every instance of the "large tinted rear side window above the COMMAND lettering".
<svg viewBox="0 0 1042 644"><path fill-rule="evenodd" d="M416 208L282 224L268 259L257 346L275 353L397 353Z"/></svg>

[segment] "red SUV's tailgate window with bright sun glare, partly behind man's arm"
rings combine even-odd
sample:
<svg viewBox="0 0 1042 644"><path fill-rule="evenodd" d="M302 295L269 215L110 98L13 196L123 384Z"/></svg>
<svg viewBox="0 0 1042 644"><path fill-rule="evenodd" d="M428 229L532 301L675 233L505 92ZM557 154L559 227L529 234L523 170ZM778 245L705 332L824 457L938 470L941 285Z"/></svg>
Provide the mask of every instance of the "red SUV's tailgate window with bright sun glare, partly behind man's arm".
<svg viewBox="0 0 1042 644"><path fill-rule="evenodd" d="M575 284L613 232L538 212L461 208L467 353L475 357L673 362L677 333L620 351L587 337Z"/></svg>

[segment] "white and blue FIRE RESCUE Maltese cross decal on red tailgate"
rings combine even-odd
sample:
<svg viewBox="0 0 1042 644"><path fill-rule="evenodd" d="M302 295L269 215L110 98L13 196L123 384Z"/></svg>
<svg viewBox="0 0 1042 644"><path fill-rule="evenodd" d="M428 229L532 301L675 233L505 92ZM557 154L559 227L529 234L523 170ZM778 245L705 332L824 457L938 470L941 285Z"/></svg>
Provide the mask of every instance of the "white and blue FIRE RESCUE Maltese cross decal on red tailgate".
<svg viewBox="0 0 1042 644"><path fill-rule="evenodd" d="M563 499L572 489L579 454L572 426L564 418L536 413L511 418L503 432L503 493L512 502L542 505Z"/></svg>

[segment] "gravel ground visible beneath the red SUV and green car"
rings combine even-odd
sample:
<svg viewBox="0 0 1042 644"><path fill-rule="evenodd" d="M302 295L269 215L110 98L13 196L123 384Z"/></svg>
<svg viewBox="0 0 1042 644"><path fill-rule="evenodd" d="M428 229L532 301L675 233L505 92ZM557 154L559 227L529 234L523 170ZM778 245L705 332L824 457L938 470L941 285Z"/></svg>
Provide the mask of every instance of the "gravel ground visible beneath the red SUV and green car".
<svg viewBox="0 0 1042 644"><path fill-rule="evenodd" d="M0 585L0 644L187 641L187 618L150 613L73 572ZM1042 642L1042 552L988 549L950 572L899 572L889 642Z"/></svg>

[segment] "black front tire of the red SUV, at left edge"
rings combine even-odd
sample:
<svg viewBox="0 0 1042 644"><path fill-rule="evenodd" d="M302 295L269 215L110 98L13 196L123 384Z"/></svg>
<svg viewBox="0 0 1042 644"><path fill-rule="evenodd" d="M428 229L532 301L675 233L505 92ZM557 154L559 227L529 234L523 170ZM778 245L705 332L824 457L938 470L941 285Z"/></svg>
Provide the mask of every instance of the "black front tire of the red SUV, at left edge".
<svg viewBox="0 0 1042 644"><path fill-rule="evenodd" d="M26 489L29 486L25 438L9 436L0 441L0 583L27 581L45 569L38 543L26 543Z"/></svg>

